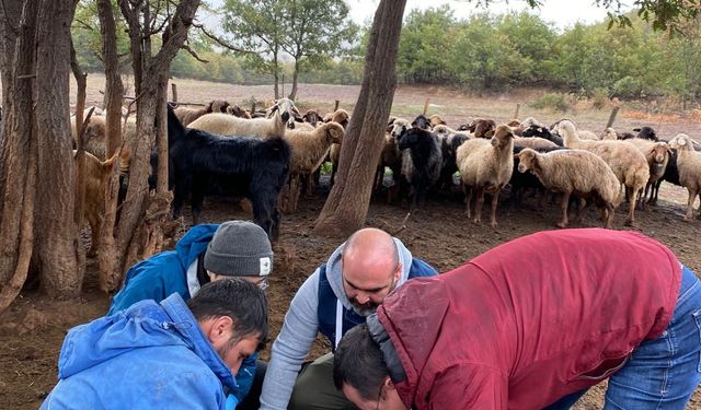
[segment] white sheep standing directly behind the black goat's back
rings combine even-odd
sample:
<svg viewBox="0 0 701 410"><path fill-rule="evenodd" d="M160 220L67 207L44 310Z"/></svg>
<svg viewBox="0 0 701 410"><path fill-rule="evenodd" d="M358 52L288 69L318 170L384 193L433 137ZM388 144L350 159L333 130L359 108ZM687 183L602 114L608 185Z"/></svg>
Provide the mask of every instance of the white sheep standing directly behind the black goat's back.
<svg viewBox="0 0 701 410"><path fill-rule="evenodd" d="M204 115L189 124L189 128L207 131L217 136L275 137L285 136L286 125L295 126L295 103L280 98L272 107L272 118L239 118L229 114L212 113Z"/></svg>

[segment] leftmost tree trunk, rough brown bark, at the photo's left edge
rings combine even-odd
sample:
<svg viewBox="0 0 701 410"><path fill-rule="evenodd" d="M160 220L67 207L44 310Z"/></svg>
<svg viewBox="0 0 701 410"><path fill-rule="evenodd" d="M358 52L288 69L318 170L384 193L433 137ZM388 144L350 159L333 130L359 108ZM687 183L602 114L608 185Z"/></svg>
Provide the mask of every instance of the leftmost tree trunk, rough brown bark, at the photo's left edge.
<svg viewBox="0 0 701 410"><path fill-rule="evenodd" d="M25 1L4 8L2 60L3 139L0 175L3 177L0 214L0 312L14 300L24 283L33 253L34 177L36 141L32 128L35 71L34 46L38 4ZM19 14L21 13L21 19ZM18 23L19 22L19 23ZM16 26L12 27L13 24ZM9 71L9 72L8 72ZM72 221L72 219L71 219Z"/></svg>

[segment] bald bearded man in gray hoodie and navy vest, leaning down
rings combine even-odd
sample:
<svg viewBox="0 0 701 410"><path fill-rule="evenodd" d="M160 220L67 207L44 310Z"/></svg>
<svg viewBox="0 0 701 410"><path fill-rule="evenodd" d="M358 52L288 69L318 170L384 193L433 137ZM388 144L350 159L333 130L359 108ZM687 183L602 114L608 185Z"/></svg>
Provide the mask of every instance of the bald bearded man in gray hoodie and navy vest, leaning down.
<svg viewBox="0 0 701 410"><path fill-rule="evenodd" d="M355 409L333 385L333 353L299 373L317 335L335 350L341 337L365 323L392 290L437 273L384 231L370 227L350 235L292 298L273 343L261 409Z"/></svg>

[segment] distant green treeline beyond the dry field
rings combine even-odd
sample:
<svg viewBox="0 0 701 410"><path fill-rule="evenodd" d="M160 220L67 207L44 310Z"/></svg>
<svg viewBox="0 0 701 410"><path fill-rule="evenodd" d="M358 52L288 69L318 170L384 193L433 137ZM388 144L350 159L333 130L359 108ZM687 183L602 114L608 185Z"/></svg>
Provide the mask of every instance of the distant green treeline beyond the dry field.
<svg viewBox="0 0 701 410"><path fill-rule="evenodd" d="M456 20L449 7L412 11L404 21L398 78L403 83L443 84L471 91L543 86L584 95L619 98L671 96L701 98L701 24L689 21L682 35L655 32L631 14L631 27L575 24L559 33L537 14L475 14ZM300 82L359 84L367 30L353 42L353 58L329 59L300 73ZM79 59L89 71L102 65L81 47ZM246 67L240 56L219 52L209 42L194 43L203 63L181 51L171 73L180 78L237 84L269 84L269 74ZM93 48L94 49L94 48ZM283 65L289 81L292 62Z"/></svg>

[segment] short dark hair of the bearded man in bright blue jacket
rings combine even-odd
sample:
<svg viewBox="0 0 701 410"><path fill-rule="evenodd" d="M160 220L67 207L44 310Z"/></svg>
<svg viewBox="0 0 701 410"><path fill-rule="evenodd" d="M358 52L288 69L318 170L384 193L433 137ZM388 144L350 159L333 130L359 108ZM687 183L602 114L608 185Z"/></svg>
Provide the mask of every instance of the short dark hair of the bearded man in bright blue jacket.
<svg viewBox="0 0 701 410"><path fill-rule="evenodd" d="M187 307L198 321L221 316L231 317L237 340L251 335L258 335L261 342L267 340L265 293L245 279L232 278L209 282L187 301Z"/></svg>

